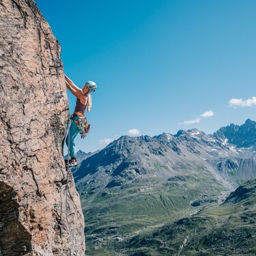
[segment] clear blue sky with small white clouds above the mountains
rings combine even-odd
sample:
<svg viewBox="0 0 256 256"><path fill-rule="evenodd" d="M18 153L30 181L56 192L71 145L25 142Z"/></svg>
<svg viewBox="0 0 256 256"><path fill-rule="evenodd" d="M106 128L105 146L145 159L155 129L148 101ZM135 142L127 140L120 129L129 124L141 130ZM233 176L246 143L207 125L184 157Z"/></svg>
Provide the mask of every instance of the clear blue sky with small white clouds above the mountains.
<svg viewBox="0 0 256 256"><path fill-rule="evenodd" d="M64 72L79 87L98 84L77 150L131 129L212 133L256 120L256 1L35 2L61 44Z"/></svg>

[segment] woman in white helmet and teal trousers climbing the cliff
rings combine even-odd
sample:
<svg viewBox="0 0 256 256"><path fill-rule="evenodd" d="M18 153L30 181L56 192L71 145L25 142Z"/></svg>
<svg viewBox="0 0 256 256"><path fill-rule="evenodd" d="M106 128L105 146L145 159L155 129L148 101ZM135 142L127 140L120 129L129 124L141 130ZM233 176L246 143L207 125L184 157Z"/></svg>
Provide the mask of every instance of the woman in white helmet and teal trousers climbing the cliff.
<svg viewBox="0 0 256 256"><path fill-rule="evenodd" d="M76 145L74 144L74 138L79 132L81 133L81 137L85 137L83 132L88 132L89 124L87 124L87 119L85 117L85 109L87 111L91 111L91 92L97 89L96 83L93 81L87 81L83 86L83 89L77 87L69 78L65 75L66 79L66 87L76 96L76 107L74 109L74 113L72 115L72 123L70 124L69 136L66 138L66 144L68 146L68 137L70 137L70 166L76 167ZM86 122L84 122L86 120ZM87 131L83 130L83 128L87 129ZM82 130L81 130L82 129Z"/></svg>

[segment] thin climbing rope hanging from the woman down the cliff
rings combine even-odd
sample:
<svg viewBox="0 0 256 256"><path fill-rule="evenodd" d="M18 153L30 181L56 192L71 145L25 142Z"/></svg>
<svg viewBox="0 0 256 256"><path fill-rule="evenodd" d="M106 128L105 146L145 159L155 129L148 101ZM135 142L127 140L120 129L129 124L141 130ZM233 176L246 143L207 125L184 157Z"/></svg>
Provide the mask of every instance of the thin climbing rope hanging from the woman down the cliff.
<svg viewBox="0 0 256 256"><path fill-rule="evenodd" d="M66 204L65 204L65 211L63 211L59 205L57 203L55 203L54 205L54 208L56 210L59 210L60 212L63 212L65 213L66 215L66 222L67 222L67 226L68 226L68 233L70 235L70 238L72 240L72 244L73 244L73 249L74 249L74 255L76 256L79 256L77 254L77 251L76 251L76 245L75 245L75 242L74 242L74 236L71 232L71 229L70 229L70 223L68 221L68 193L69 193L69 187L68 187L68 182L69 182L69 178L71 176L71 171L70 171L70 124L71 124L71 121L72 121L72 117L70 117L70 119L68 120L68 165L66 166L66 170L67 170L67 184L66 184Z"/></svg>

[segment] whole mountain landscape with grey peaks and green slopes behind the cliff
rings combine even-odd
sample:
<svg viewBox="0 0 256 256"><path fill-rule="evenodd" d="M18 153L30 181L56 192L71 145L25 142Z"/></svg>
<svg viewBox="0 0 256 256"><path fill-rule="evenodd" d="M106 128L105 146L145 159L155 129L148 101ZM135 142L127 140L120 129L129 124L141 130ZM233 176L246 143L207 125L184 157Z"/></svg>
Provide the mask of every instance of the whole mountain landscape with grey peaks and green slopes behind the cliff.
<svg viewBox="0 0 256 256"><path fill-rule="evenodd" d="M88 255L255 255L255 186L238 188L256 177L255 141L248 119L212 135L123 136L95 154L80 152L74 178ZM233 190L246 197L232 201Z"/></svg>

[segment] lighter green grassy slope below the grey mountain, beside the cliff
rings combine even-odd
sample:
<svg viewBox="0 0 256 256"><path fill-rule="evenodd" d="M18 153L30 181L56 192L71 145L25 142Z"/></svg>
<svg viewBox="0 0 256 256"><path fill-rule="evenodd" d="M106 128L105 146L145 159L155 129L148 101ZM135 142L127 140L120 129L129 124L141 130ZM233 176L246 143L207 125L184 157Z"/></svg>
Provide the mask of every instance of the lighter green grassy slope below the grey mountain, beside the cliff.
<svg viewBox="0 0 256 256"><path fill-rule="evenodd" d="M186 175L182 181L140 176L125 186L96 189L91 195L83 195L86 255L130 255L132 248L136 251L136 244L131 246L126 242L134 236L143 237L165 223L185 218L209 205L210 199L218 201L223 186L204 169L197 171L199 175ZM202 205L192 207L193 201L200 201ZM117 237L121 241L117 242ZM147 244L147 247L151 246ZM154 249L150 251L153 254L148 255L154 255ZM121 252L124 254L119 254Z"/></svg>

